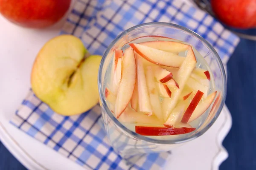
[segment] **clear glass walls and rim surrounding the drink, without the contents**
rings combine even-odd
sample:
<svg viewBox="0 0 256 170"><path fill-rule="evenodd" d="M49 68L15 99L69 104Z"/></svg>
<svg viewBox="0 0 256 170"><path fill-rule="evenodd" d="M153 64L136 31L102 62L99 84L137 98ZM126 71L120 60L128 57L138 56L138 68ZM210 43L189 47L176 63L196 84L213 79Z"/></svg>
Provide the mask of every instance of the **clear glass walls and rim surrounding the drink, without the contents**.
<svg viewBox="0 0 256 170"><path fill-rule="evenodd" d="M105 80L109 77L108 69L111 69L110 63L112 61L113 50L115 48L121 48L131 40L145 36L163 36L187 42L193 45L209 64L215 81L215 89L218 91L218 94L215 101L208 109L209 114L204 114L204 121L200 123L197 130L193 133L189 133L189 135L177 135L172 138L159 139L142 136L122 125L108 108L105 99ZM191 141L204 134L221 113L226 98L227 82L220 57L212 45L204 38L187 28L175 24L145 23L122 32L122 34L116 37L109 45L102 57L99 67L98 87L102 118L108 138L114 150L124 158L128 158L137 154L169 151L173 147L177 147L184 142Z"/></svg>

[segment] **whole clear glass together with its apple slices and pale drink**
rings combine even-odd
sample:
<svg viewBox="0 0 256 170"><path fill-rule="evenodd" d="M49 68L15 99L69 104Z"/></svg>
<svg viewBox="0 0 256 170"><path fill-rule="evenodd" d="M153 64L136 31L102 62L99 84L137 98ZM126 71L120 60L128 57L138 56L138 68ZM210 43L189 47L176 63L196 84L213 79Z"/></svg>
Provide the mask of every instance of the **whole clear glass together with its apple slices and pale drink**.
<svg viewBox="0 0 256 170"><path fill-rule="evenodd" d="M221 113L226 76L212 45L187 28L145 23L116 37L99 66L102 120L123 158L204 134Z"/></svg>

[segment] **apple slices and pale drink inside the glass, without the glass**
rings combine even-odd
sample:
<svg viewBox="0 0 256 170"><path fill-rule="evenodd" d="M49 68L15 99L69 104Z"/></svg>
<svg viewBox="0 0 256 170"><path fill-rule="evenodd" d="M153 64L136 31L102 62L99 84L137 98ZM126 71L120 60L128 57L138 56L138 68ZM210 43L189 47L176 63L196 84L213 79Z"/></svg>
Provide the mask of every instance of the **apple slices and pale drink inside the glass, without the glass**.
<svg viewBox="0 0 256 170"><path fill-rule="evenodd" d="M202 125L218 92L211 70L191 45L142 37L114 49L105 99L128 129L154 138Z"/></svg>

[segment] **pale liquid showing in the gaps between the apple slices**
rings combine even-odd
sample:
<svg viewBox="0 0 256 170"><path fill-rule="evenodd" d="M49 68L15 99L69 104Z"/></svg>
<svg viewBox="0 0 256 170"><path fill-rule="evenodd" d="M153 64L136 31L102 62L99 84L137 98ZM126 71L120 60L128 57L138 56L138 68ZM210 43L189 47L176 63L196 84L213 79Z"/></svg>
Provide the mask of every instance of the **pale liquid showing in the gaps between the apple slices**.
<svg viewBox="0 0 256 170"><path fill-rule="evenodd" d="M174 40L174 39L169 39L169 38L164 38L164 37L142 37L142 38L138 38L136 40L133 40L131 42L128 42L127 44L125 44L121 48L121 50L125 52L128 48L131 48L130 45L129 45L130 43L137 43L137 44L139 44L141 42L150 42L150 41L175 41L175 42L181 42L179 40ZM181 42L181 43L187 44L186 42ZM189 45L189 44L187 44L187 45ZM204 91L204 95L207 96L208 94L211 94L211 93L215 92L214 78L212 76L212 72L211 72L211 70L209 68L209 65L205 61L204 57L202 57L201 54L198 53L198 51L195 50L195 48L192 47L192 49L194 51L194 54L195 54L195 57L196 57L196 60L197 60L196 68L202 68L204 70L209 71L209 74L210 74L210 77L211 77L211 79L209 80L207 91ZM187 53L187 51L180 51L180 52L177 52L177 55L180 56L180 57L186 57L186 53ZM144 65L147 65L147 64L150 65L151 64L148 61L146 61L145 59L143 59L143 61L144 61ZM106 74L105 74L106 76L105 76L105 79L104 79L104 89L105 88L108 88L110 90L112 89L111 86L113 85L113 79L111 77L113 77L113 65L114 65L113 62L115 62L115 57L114 56L112 57L112 61L110 62L109 67L108 67L108 69L106 71ZM168 68L168 67L165 67L165 66L161 66L161 67L162 68ZM194 78L194 80L197 80L197 78L199 78L199 77L192 77L192 78ZM185 85L184 88L183 88L183 91L189 91L189 89L191 89L190 86L189 85ZM175 90L175 88L173 88L172 90ZM163 98L164 98L163 96L159 95L159 99L160 99L161 104L163 102ZM190 102L191 102L191 100L192 99L190 99ZM114 107L115 107L114 106L115 102L113 102L113 101L109 102L108 99L106 100L106 102L107 102L109 108L112 108L112 112L114 112L113 110L114 110ZM129 103L127 107L132 109L131 108L131 103ZM198 129L205 122L205 120L207 119L207 116L209 115L209 111L210 111L210 109L207 109L207 111L205 111L204 114L202 114L197 119L195 119L192 122L190 122L189 125L191 125L192 127ZM166 120L164 120L164 122L165 121ZM122 121L120 121L120 122L122 122ZM132 130L134 132L135 132L135 126L138 125L137 123L130 123L130 122L122 122L122 124L125 125L128 129L130 129L130 130ZM152 126L154 126L154 125L152 125ZM189 134L183 134L183 135L189 135ZM178 138L178 136L179 135L149 136L149 137L156 138L156 139L169 139L169 138Z"/></svg>

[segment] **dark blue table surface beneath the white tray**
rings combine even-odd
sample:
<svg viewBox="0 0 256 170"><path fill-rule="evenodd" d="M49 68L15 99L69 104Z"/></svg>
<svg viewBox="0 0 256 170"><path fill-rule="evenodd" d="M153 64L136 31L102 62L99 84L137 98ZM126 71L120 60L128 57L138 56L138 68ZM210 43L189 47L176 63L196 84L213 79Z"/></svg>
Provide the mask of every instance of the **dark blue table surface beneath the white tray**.
<svg viewBox="0 0 256 170"><path fill-rule="evenodd" d="M256 30L250 34L256 35ZM256 170L256 42L241 39L227 64L226 104L233 126L223 142L229 157L220 170ZM0 170L26 170L0 143ZM192 169L193 170L193 169Z"/></svg>

